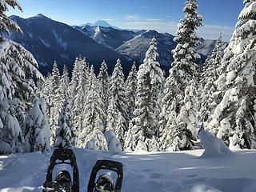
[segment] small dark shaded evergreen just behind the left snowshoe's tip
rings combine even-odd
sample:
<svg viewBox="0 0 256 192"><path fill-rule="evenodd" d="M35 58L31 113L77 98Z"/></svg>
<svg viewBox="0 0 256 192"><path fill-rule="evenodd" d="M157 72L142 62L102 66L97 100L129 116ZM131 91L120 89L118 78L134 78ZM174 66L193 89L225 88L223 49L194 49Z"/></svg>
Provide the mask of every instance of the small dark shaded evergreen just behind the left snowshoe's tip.
<svg viewBox="0 0 256 192"><path fill-rule="evenodd" d="M58 118L58 126L54 146L59 148L77 146L78 135L74 128L72 110L68 99L63 103L62 112Z"/></svg>

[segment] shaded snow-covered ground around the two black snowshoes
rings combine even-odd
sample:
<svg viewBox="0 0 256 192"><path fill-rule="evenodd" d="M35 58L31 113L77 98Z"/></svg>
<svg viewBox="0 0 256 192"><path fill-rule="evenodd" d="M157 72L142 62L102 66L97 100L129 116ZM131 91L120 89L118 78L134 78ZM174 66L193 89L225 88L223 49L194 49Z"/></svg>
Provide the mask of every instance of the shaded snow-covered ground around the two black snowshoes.
<svg viewBox="0 0 256 192"><path fill-rule="evenodd" d="M122 162L122 191L254 192L256 150L238 150L218 158L200 158L204 150L173 153L120 152L74 148L80 191L86 191L90 170L98 159ZM52 150L53 151L53 150ZM42 191L52 153L0 155L0 191ZM58 170L70 166L58 166Z"/></svg>

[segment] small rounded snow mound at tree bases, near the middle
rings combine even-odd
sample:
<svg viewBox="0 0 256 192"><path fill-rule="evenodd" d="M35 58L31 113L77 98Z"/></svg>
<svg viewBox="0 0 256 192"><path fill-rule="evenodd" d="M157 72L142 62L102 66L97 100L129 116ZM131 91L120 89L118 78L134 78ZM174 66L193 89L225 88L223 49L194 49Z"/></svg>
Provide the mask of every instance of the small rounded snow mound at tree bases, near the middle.
<svg viewBox="0 0 256 192"><path fill-rule="evenodd" d="M119 142L119 139L115 136L113 130L107 130L104 136L106 138L110 154L118 154L122 151L122 146Z"/></svg>

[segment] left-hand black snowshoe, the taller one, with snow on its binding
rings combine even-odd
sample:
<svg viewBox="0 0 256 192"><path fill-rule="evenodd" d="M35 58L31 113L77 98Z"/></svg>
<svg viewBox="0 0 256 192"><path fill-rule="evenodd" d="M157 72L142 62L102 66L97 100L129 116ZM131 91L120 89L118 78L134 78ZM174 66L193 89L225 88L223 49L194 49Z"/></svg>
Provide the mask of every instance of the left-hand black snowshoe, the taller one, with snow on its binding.
<svg viewBox="0 0 256 192"><path fill-rule="evenodd" d="M70 161L68 161L70 160ZM58 161L58 162L57 162ZM60 161L60 162L59 162ZM68 164L73 169L73 182L70 174L66 170L61 170L54 181L53 170L54 166L58 164ZM42 192L79 192L79 173L76 158L71 149L56 149L50 158L50 164L46 173L46 182L42 185L44 189Z"/></svg>

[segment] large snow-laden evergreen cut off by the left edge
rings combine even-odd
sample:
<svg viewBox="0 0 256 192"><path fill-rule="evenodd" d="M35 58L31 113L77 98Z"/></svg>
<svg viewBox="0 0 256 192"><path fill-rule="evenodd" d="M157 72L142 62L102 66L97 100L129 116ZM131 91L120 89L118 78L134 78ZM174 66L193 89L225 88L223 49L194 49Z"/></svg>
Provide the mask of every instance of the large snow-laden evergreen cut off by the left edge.
<svg viewBox="0 0 256 192"><path fill-rule="evenodd" d="M22 32L19 26L7 17L7 6L17 6L22 10L15 0L0 2L0 124L3 127L0 129L0 140L4 137L5 144L1 145L9 145L9 152L16 152L18 142L22 142L21 133L24 132L21 132L19 127L23 127L24 115L33 105L34 98L40 94L32 79L44 78L37 69L38 63L29 51L16 42L2 38L1 32ZM6 137L9 140L6 140Z"/></svg>

